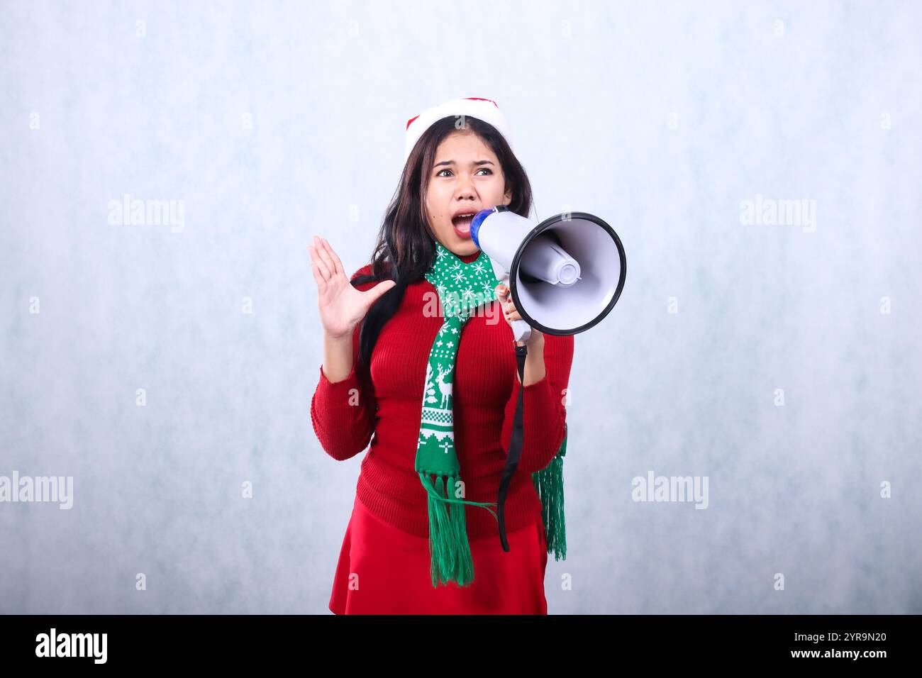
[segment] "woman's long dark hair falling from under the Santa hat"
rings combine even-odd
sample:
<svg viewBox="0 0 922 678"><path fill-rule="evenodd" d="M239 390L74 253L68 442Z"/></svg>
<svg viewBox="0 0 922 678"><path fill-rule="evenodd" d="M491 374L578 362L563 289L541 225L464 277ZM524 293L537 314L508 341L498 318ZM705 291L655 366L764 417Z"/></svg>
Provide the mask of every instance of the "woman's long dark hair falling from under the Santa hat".
<svg viewBox="0 0 922 678"><path fill-rule="evenodd" d="M461 127L456 122L464 121ZM360 360L372 363L374 344L384 323L391 319L403 303L407 286L423 279L435 258L435 237L426 218L426 191L431 178L430 169L435 162L435 151L444 137L469 129L491 148L500 161L505 177L503 192L512 190L510 211L528 218L532 208L531 184L525 168L515 158L512 149L496 128L479 118L454 115L442 118L427 129L412 152L400 176L400 184L387 208L384 223L378 232L378 242L372 251L370 275L350 280L353 287L366 282L394 280L396 285L384 292L372 304L361 323L359 335Z"/></svg>

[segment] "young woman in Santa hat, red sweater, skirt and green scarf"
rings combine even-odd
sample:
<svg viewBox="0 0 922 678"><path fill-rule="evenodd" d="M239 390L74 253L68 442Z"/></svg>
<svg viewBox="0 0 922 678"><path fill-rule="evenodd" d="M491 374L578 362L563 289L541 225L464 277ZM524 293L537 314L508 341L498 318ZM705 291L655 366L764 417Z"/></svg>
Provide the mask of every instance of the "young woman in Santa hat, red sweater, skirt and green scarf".
<svg viewBox="0 0 922 678"><path fill-rule="evenodd" d="M497 282L471 241L471 220L459 215L497 205L531 211L509 136L489 100L446 101L411 119L406 165L371 264L348 279L324 238L308 247L324 328L313 429L336 459L371 442L333 613L547 613L548 535L531 474L549 467L565 440L573 337L533 328L519 342L527 345L523 384L510 327L521 316L507 288L490 284L477 312L448 319L458 309L446 293L454 280ZM524 443L505 499L507 552L490 506L521 389ZM431 464L456 461L444 477L427 466L428 446L444 452L429 452Z"/></svg>

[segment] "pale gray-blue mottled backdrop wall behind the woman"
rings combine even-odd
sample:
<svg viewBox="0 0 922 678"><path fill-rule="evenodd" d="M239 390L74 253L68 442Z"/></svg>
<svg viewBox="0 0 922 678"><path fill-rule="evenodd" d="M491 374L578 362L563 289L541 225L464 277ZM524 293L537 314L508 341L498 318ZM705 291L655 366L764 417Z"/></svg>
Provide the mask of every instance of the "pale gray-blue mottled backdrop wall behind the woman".
<svg viewBox="0 0 922 678"><path fill-rule="evenodd" d="M550 613L922 613L920 19L2 3L0 475L74 506L0 503L0 612L328 613L362 455L311 427L305 247L366 263L408 118L480 96L535 218L596 213L628 256L576 338ZM124 194L182 228L110 223ZM756 196L815 230L743 223ZM648 471L708 507L632 501Z"/></svg>

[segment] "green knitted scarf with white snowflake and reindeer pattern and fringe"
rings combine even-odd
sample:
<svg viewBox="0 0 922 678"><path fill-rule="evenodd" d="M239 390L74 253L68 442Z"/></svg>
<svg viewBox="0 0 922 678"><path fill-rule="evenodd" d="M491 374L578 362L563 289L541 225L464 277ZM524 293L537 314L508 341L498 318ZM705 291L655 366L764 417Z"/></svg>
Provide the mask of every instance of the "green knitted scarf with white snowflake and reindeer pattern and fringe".
<svg viewBox="0 0 922 678"><path fill-rule="evenodd" d="M425 277L438 292L444 322L429 351L414 468L428 494L431 577L432 586L438 588L449 581L467 586L474 580L465 505L485 508L496 518L490 508L496 506L495 502L462 498L464 485L455 453L452 386L461 330L477 308L496 299L496 286L501 280L496 278L486 252L481 251L474 261L464 262L438 241L435 246L435 261ZM532 474L541 499L548 553L553 552L557 560L561 556L566 558L562 478L566 445L564 428L557 456L547 468Z"/></svg>

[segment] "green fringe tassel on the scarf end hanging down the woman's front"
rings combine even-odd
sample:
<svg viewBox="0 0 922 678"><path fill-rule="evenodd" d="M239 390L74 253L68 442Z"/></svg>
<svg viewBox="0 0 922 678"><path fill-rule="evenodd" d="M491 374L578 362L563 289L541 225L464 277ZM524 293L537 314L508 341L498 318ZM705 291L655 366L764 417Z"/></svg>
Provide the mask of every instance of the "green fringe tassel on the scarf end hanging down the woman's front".
<svg viewBox="0 0 922 678"><path fill-rule="evenodd" d="M491 512L496 521L499 517L493 513L490 502L469 502L447 495L448 488L455 487L457 476L451 475L443 480L436 475L433 483L425 472L420 472L420 481L429 495L429 554L432 587L454 581L458 586L467 586L474 581L474 562L470 555L467 541L467 521L464 505L482 506ZM449 507L449 505L454 505Z"/></svg>

